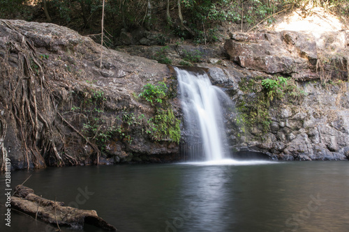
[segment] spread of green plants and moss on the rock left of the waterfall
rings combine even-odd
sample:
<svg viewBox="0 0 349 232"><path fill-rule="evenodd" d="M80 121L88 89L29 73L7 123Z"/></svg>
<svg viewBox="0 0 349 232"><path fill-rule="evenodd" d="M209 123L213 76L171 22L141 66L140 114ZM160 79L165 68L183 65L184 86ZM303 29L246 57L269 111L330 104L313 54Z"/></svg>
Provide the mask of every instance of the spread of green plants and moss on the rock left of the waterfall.
<svg viewBox="0 0 349 232"><path fill-rule="evenodd" d="M158 82L156 85L146 84L140 93L140 98L151 102L154 107L154 118L147 118L137 111L119 111L110 115L105 111L103 102L106 98L100 90L72 93L79 95L83 100L79 107L73 105L70 111L74 117L82 118L82 133L101 151L105 151L105 144L112 139L131 144L133 137L141 134L147 134L154 141L179 142L180 121L175 118L166 102L170 93L164 82Z"/></svg>

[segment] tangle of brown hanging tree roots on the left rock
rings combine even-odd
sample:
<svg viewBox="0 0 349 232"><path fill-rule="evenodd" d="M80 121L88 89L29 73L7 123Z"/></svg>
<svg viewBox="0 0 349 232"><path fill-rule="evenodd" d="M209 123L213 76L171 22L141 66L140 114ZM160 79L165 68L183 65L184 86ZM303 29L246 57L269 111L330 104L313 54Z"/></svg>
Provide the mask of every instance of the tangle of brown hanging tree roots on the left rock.
<svg viewBox="0 0 349 232"><path fill-rule="evenodd" d="M14 119L15 132L24 148L24 163L27 164L27 169L31 165L34 168L43 168L46 164L61 167L64 165L64 159L76 164L73 157L59 153L58 148L64 147L64 139L54 125L57 103L45 80L45 75L48 75L45 64L37 58L31 41L9 22L1 22L17 33L17 41L20 41L7 42L6 54L4 58L0 57L2 101L7 112L0 116L1 157L7 155L3 145L7 130L6 121ZM14 56L17 56L15 65ZM3 164L1 164L2 170Z"/></svg>

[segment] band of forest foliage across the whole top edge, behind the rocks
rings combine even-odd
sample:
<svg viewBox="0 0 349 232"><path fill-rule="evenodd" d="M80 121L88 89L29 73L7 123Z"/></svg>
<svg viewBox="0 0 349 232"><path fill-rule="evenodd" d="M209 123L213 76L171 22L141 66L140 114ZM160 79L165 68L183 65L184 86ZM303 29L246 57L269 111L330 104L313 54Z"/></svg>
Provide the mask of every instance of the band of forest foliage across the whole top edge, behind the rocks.
<svg viewBox="0 0 349 232"><path fill-rule="evenodd" d="M184 25L174 23L169 28L172 34L179 38L191 38L194 42L214 42L220 37L218 28L222 24L241 23L251 28L263 19L273 21L274 15L283 9L302 8L306 5L320 6L330 12L341 14L346 19L349 14L348 0L181 0L181 11L184 16ZM23 19L27 21L43 20L42 0L1 0L0 18ZM146 27L150 31L156 26L165 24L165 1L151 0L151 17L148 17L148 1L108 0L105 1L105 30L110 38L117 38L121 29L131 31L135 28ZM170 14L172 19L177 17L177 1L170 0ZM101 0L47 0L47 10L52 22L68 26L84 33L95 33L96 20L101 20ZM310 13L310 12L309 12ZM160 16L161 15L161 16ZM242 15L244 17L242 18ZM160 27L161 28L161 27ZM163 26L165 28L165 26ZM189 30L188 30L189 29ZM81 32L80 31L80 32ZM97 41L99 36L94 37ZM157 42L165 45L168 40L160 34ZM110 42L110 45L114 41ZM169 63L170 59L162 62Z"/></svg>

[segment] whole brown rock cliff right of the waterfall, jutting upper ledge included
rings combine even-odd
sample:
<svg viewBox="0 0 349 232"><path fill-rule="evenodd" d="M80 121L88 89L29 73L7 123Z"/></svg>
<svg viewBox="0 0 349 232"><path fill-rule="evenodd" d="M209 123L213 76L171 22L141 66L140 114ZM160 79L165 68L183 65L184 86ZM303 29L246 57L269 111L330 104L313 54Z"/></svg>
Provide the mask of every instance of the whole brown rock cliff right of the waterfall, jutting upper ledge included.
<svg viewBox="0 0 349 232"><path fill-rule="evenodd" d="M240 137L231 133L232 146L236 150L267 153L279 160L346 160L348 36L348 31L231 33L225 49L232 61L249 70L292 77L298 81L299 91L306 95L299 102L272 101L267 111L270 117L267 130L250 128ZM253 78L253 82L258 79L260 82L255 74L243 77L245 83ZM328 84L329 79L336 84ZM313 82L303 82L306 80ZM238 82L240 88L246 87L241 80ZM262 91L235 91L232 96L236 102L241 103L241 98L251 102Z"/></svg>

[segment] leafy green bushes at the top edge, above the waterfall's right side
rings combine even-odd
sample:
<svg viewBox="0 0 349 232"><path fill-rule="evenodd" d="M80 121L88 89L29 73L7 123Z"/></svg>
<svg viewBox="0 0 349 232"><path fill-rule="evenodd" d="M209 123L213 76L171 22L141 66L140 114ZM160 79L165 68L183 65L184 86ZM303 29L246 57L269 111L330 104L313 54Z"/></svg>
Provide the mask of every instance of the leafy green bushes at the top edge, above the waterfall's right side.
<svg viewBox="0 0 349 232"><path fill-rule="evenodd" d="M266 0L183 0L186 15L191 15L187 24L194 32L193 41L197 43L215 42L219 38L218 26L222 22L241 22L253 26L260 20L275 13L277 1ZM242 15L244 17L242 18ZM269 21L272 21L270 17ZM177 30L178 31L178 30ZM179 33L175 33L178 34ZM181 36L180 36L181 37Z"/></svg>

